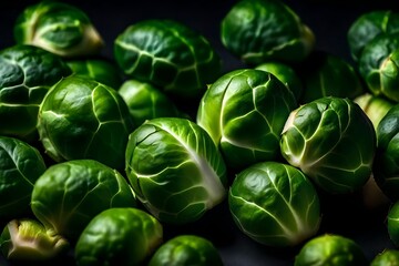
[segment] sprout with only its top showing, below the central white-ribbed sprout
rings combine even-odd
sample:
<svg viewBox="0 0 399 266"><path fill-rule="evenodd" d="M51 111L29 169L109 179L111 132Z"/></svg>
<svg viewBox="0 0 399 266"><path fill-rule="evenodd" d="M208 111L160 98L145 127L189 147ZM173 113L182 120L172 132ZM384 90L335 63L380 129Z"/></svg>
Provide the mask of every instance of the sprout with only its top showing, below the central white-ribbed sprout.
<svg viewBox="0 0 399 266"><path fill-rule="evenodd" d="M222 266L222 257L208 239L197 235L178 235L162 244L149 266Z"/></svg>

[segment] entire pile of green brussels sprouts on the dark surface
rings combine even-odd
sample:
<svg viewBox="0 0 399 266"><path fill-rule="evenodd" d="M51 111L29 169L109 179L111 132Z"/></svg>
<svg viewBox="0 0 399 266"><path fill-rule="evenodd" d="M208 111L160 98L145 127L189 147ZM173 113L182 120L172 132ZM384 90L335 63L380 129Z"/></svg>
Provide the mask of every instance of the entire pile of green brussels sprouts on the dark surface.
<svg viewBox="0 0 399 266"><path fill-rule="evenodd" d="M355 63L319 50L279 0L237 1L219 22L239 69L177 20L130 24L106 58L84 10L21 10L0 50L10 264L224 265L211 234L184 231L221 207L248 239L295 250L296 266L399 262L323 229L326 195L367 187L399 247L399 13L352 22Z"/></svg>

